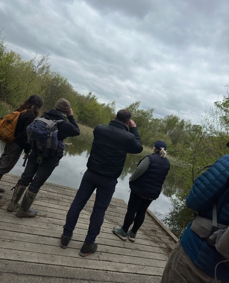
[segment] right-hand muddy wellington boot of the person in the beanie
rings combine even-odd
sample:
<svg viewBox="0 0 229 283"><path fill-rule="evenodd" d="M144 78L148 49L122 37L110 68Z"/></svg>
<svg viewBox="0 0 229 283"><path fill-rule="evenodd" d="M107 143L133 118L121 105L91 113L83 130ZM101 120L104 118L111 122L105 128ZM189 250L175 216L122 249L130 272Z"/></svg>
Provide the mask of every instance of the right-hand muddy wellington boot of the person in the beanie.
<svg viewBox="0 0 229 283"><path fill-rule="evenodd" d="M30 209L34 198L36 197L37 193L31 193L30 191L26 191L24 198L22 200L22 204L18 209L16 216L17 217L34 217L37 214L36 210Z"/></svg>

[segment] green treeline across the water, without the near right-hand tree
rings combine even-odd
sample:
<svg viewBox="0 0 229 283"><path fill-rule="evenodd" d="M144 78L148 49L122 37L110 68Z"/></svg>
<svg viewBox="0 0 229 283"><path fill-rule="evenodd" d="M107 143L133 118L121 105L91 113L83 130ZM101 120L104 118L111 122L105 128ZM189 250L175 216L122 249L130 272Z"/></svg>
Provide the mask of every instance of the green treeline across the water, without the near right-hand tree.
<svg viewBox="0 0 229 283"><path fill-rule="evenodd" d="M36 54L31 60L23 60L14 51L8 51L4 39L0 39L0 100L12 108L32 94L44 99L44 110L53 108L60 97L69 100L74 115L80 124L94 128L98 124L107 124L115 116L115 101L99 103L95 94L79 93L59 72L51 71L48 55ZM153 118L154 108L139 109L137 101L126 107L132 114L141 135L142 143L152 147L158 139L168 143L171 154L190 122L180 120L178 116Z"/></svg>

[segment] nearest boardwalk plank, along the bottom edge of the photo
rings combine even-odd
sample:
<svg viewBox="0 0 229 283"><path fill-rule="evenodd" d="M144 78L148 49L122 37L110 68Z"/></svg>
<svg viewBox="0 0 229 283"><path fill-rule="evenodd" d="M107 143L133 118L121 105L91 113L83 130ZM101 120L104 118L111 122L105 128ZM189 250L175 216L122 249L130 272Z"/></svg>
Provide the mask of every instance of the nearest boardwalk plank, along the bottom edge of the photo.
<svg viewBox="0 0 229 283"><path fill-rule="evenodd" d="M90 270L77 267L43 265L30 262L2 260L0 259L1 282L25 283L25 282L117 282L117 283L159 283L160 276L130 274L118 271ZM4 273L3 273L4 272ZM29 277L31 276L31 277ZM38 277L37 277L38 276ZM55 277L54 277L55 276ZM31 278L31 280L29 280ZM53 279L54 278L54 279ZM55 281L56 279L56 281ZM51 281L49 281L51 280ZM68 281L69 280L69 281ZM77 280L77 281L76 281ZM89 281L88 281L89 280Z"/></svg>

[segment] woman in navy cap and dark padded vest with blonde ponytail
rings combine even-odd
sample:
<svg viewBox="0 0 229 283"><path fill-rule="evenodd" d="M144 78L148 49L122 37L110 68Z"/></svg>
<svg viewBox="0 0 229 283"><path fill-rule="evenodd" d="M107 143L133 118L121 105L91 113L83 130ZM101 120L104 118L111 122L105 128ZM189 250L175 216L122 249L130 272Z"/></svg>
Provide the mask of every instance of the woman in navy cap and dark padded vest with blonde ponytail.
<svg viewBox="0 0 229 283"><path fill-rule="evenodd" d="M170 161L166 158L167 145L158 140L153 146L153 153L141 159L130 177L130 198L124 222L121 228L112 231L121 240L129 237L135 241L138 229L144 222L145 212L161 193L162 185L170 170ZM130 226L134 223L131 229Z"/></svg>

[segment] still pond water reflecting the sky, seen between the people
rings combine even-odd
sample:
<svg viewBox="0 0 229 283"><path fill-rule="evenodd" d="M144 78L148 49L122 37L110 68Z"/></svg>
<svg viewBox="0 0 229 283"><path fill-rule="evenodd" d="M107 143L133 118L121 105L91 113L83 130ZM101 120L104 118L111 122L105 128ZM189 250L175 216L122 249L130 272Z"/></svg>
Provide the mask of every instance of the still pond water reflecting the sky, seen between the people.
<svg viewBox="0 0 229 283"><path fill-rule="evenodd" d="M69 141L69 140L68 140ZM48 178L49 183L63 185L71 188L78 189L82 176L87 169L87 160L90 154L90 146L80 144L75 140L70 139L70 145L66 146L65 155L60 160L59 166L55 168L52 175ZM75 145L75 146L73 146ZM0 147L0 153L3 151L3 144ZM136 168L136 163L143 158L142 154L128 154L126 163L124 165L121 176L118 178L118 184L116 185L114 197L123 199L128 203L130 189L129 189L129 178L131 173ZM15 167L10 171L11 174L21 175L24 172L23 167L23 155L18 160ZM172 170L170 170L166 177L161 194L158 199L154 200L149 209L159 218L162 219L164 215L172 209L171 196L174 196L177 188L174 186L174 178ZM121 225L121 223L120 223Z"/></svg>

